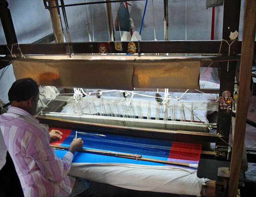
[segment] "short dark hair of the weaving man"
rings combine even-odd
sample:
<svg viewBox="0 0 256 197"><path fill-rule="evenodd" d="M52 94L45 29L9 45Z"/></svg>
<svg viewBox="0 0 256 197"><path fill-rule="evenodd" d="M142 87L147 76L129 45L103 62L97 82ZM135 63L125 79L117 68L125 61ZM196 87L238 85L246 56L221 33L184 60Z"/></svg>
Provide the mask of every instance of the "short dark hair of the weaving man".
<svg viewBox="0 0 256 197"><path fill-rule="evenodd" d="M12 84L8 92L9 101L27 101L39 93L38 85L31 78L17 80Z"/></svg>

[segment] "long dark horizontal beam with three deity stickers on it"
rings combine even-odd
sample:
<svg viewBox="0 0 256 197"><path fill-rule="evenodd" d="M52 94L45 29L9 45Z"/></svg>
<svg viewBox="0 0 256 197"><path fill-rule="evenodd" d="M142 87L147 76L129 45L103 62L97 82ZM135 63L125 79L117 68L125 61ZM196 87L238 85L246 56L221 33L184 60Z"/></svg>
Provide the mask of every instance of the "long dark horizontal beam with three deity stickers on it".
<svg viewBox="0 0 256 197"><path fill-rule="evenodd" d="M99 44L102 42L71 42L71 43L47 43L47 44L20 44L23 54L67 54L66 48L72 47L74 54L98 54ZM115 42L104 42L108 53L128 52L128 43L122 42L123 50L115 49ZM136 44L142 53L192 53L192 54L218 54L221 41L140 41ZM236 54L241 53L241 41L232 44L231 50ZM8 45L12 48L12 45ZM18 44L13 45L12 53L20 55ZM255 50L256 51L256 50ZM228 54L228 44L222 43L220 53ZM10 55L6 45L0 45L0 55Z"/></svg>

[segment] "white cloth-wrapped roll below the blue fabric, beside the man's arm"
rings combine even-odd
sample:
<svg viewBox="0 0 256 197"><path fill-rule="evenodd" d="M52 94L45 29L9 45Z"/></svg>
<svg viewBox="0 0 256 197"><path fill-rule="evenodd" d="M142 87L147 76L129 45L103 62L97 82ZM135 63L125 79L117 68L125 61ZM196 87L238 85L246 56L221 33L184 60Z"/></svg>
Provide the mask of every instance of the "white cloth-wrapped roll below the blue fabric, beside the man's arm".
<svg viewBox="0 0 256 197"><path fill-rule="evenodd" d="M72 163L69 175L140 191L200 196L196 170L128 163Z"/></svg>

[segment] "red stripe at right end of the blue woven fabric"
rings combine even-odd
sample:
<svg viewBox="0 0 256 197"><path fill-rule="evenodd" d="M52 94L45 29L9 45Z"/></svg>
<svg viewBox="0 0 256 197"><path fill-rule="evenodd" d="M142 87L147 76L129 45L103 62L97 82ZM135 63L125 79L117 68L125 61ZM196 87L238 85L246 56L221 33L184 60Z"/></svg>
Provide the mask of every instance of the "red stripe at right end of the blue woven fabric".
<svg viewBox="0 0 256 197"><path fill-rule="evenodd" d="M201 150L200 143L173 141L168 158L199 161Z"/></svg>

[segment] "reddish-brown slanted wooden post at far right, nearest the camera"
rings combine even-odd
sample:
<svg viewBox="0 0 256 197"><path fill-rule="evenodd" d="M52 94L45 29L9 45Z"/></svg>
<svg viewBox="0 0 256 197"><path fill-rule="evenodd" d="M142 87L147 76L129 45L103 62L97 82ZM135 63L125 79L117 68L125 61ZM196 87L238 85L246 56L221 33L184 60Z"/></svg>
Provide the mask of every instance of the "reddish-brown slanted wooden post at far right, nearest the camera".
<svg viewBox="0 0 256 197"><path fill-rule="evenodd" d="M244 7L244 27L242 36L239 92L236 108L233 151L230 165L230 184L228 190L228 197L236 197L240 176L244 135L246 129L246 118L250 95L250 76L252 74L255 30L256 0L246 0Z"/></svg>

